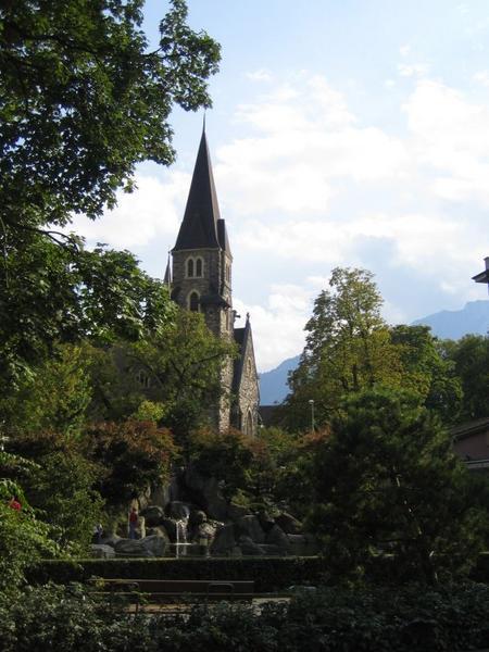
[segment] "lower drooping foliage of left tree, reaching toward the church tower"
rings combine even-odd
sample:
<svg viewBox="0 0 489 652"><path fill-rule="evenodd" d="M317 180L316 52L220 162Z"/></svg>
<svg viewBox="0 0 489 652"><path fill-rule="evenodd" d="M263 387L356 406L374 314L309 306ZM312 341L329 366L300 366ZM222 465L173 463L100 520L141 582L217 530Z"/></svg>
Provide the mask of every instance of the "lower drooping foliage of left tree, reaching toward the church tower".
<svg viewBox="0 0 489 652"><path fill-rule="evenodd" d="M158 333L173 317L163 281L127 251L72 250L29 234L0 264L0 388L10 393L62 342Z"/></svg>

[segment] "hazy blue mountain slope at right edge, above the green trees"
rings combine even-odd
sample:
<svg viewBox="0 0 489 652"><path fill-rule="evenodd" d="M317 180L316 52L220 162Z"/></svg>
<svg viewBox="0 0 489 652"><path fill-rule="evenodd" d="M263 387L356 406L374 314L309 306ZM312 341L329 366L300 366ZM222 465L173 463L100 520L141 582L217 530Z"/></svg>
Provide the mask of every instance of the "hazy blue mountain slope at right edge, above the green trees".
<svg viewBox="0 0 489 652"><path fill-rule="evenodd" d="M431 333L441 339L460 339L469 333L487 335L489 301L469 301L462 310L442 310L413 324L430 326Z"/></svg>

